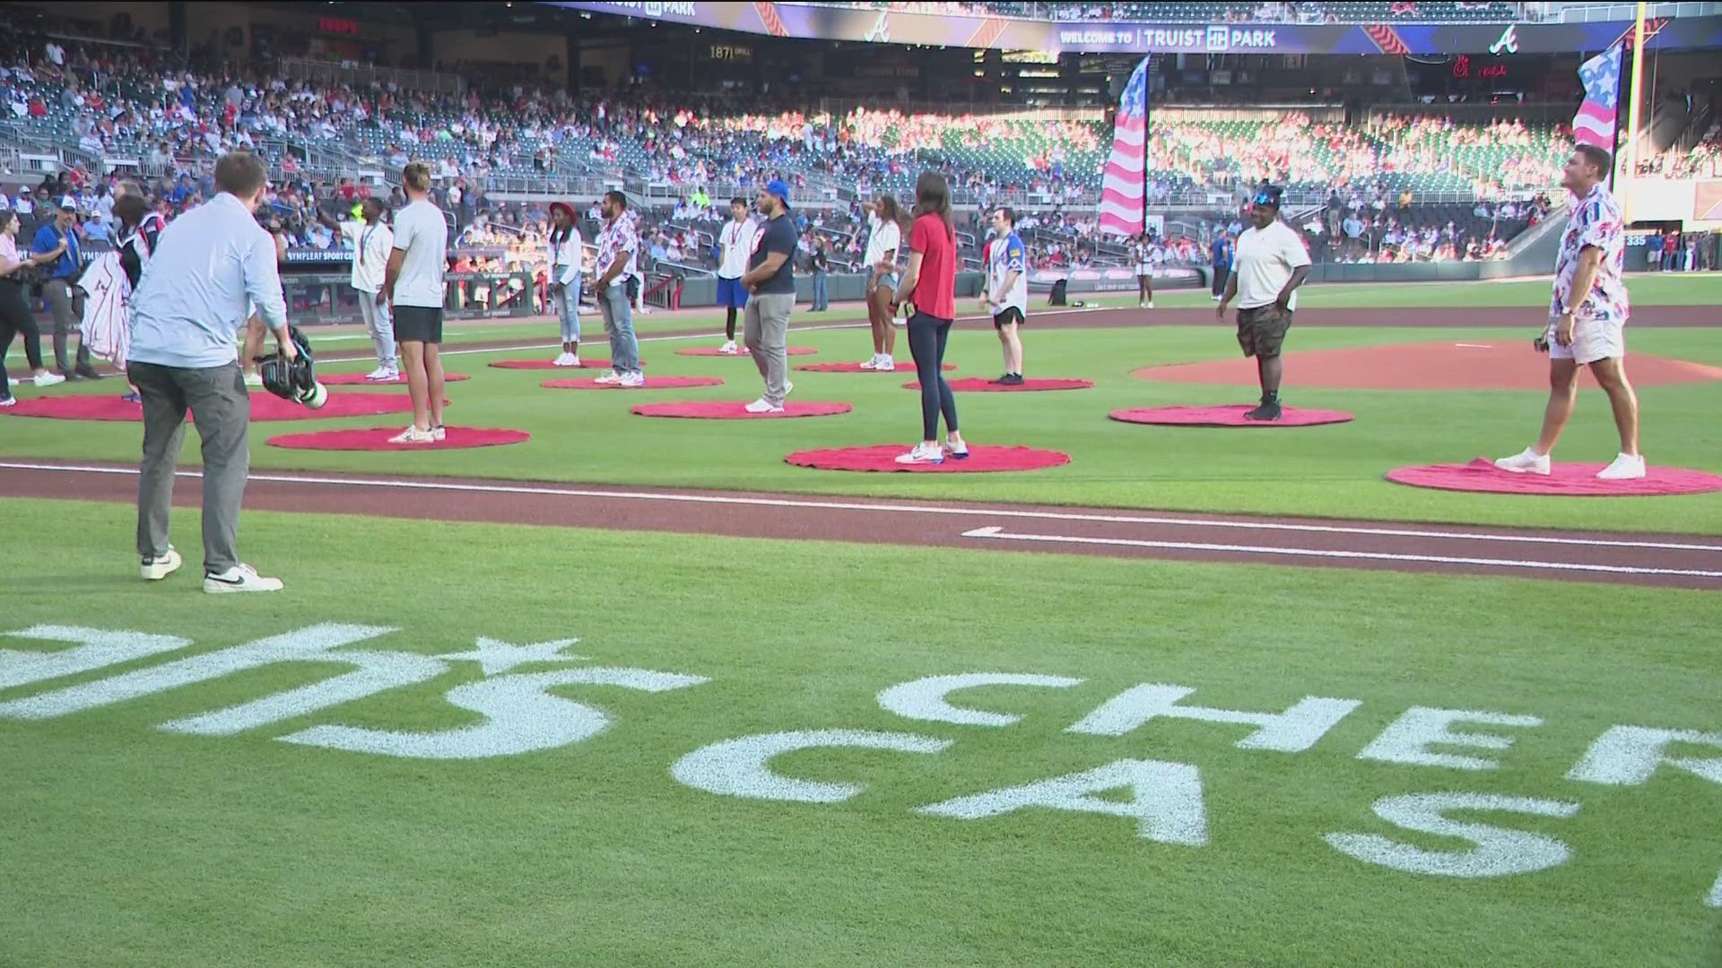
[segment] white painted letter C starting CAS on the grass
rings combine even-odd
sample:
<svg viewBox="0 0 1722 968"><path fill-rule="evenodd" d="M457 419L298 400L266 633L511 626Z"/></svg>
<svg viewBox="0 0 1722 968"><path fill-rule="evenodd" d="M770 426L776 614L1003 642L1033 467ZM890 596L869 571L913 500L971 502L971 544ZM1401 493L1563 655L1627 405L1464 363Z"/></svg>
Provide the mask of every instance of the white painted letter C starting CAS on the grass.
<svg viewBox="0 0 1722 968"><path fill-rule="evenodd" d="M771 758L797 749L895 749L899 753L938 753L949 739L913 732L868 732L859 729L825 729L808 732L768 732L701 746L670 766L682 785L722 796L778 799L789 803L842 803L866 787L861 784L818 784L771 772Z"/></svg>

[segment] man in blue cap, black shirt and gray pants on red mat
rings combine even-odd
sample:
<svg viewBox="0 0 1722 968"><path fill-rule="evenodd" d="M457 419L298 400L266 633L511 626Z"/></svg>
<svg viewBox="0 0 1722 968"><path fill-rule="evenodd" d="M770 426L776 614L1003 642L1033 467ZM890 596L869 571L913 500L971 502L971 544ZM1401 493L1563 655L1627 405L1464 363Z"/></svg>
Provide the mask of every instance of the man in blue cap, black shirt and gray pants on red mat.
<svg viewBox="0 0 1722 968"><path fill-rule="evenodd" d="M782 413L789 382L789 313L796 308L796 220L789 217L789 186L771 179L759 189L765 224L754 241L742 286L753 293L742 319L747 353L765 377L765 396L747 405L749 413Z"/></svg>

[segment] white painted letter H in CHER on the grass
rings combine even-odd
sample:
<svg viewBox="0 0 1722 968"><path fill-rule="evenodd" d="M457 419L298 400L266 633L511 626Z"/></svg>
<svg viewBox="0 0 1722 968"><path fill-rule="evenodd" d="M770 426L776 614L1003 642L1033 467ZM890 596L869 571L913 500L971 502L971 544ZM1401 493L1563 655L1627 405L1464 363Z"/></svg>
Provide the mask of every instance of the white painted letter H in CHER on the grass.
<svg viewBox="0 0 1722 968"><path fill-rule="evenodd" d="M1254 725L1255 732L1240 739L1238 749L1278 749L1279 753L1300 753L1316 746L1329 729L1338 725L1352 710L1362 704L1359 699L1324 699L1305 696L1283 713L1245 713L1236 710L1211 710L1205 706L1178 706L1195 689L1183 686L1142 684L1124 689L1107 699L1099 710L1083 717L1066 732L1085 732L1090 735L1124 735L1140 729L1152 718L1168 717L1176 720L1200 720L1209 723Z"/></svg>

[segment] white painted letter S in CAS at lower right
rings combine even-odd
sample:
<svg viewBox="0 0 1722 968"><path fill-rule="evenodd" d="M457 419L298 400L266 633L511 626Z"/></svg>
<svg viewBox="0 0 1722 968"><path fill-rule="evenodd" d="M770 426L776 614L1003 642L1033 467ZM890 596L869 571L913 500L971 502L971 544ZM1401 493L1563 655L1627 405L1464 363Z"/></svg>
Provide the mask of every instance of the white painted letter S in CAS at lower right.
<svg viewBox="0 0 1722 968"><path fill-rule="evenodd" d="M1376 816L1407 830L1459 837L1476 844L1469 851L1428 851L1374 834L1326 834L1328 846L1364 863L1434 873L1441 877L1507 877L1558 866L1570 851L1553 837L1507 830L1488 823L1460 823L1443 816L1448 810L1483 810L1527 813L1533 816L1572 816L1579 804L1558 799L1533 799L1495 794L1405 794L1374 803Z"/></svg>

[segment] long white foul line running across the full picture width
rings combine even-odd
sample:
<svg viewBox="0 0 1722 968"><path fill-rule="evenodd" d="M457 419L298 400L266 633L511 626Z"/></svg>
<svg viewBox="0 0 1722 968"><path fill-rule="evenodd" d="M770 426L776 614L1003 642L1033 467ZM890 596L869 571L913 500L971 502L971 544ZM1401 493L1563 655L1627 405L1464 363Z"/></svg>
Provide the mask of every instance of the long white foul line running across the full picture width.
<svg viewBox="0 0 1722 968"><path fill-rule="evenodd" d="M0 462L0 470L53 470L67 474L126 474L126 475L138 474L134 467L95 467L95 465L76 465L76 463L28 463L28 462ZM177 470L176 474L179 477L203 475L201 472L196 470ZM1722 544L1684 544L1677 541L1619 541L1607 537L1552 537L1552 536L1534 536L1534 534L1517 536L1517 534L1486 534L1486 532L1465 532L1465 531L1419 531L1419 529L1402 529L1402 527L1288 524L1276 520L1204 520L1204 518L1174 518L1174 517L1154 517L1154 515L1018 512L1018 510L1000 510L1000 508L966 508L951 505L883 505L883 503L870 505L861 501L740 498L740 496L728 498L723 494L682 494L675 491L594 491L580 487L542 487L542 486L525 486L525 484L472 484L472 482L461 484L461 482L439 482L439 481L391 481L391 479L369 479L369 477L315 477L308 474L251 474L250 479L270 484L403 487L418 491L463 491L477 494L544 494L548 498L606 498L606 500L623 500L623 501L672 501L672 503L691 503L691 505L734 505L734 506L754 506L754 508L811 508L823 512L973 515L973 517L1004 517L1004 518L1026 518L1026 520L1076 520L1076 522L1099 522L1099 524L1152 524L1152 525L1169 525L1169 527L1230 527L1243 531L1290 531L1304 534L1367 534L1378 537L1507 541L1507 543L1526 543L1526 544L1564 544L1576 548L1653 548L1663 551L1722 551Z"/></svg>

